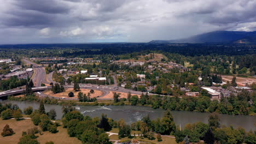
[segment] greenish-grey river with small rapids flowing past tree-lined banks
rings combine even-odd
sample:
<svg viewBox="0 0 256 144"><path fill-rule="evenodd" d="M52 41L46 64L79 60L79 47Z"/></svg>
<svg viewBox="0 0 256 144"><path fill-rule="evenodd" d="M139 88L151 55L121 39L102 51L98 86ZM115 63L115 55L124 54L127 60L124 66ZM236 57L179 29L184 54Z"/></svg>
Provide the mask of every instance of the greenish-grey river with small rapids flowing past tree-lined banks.
<svg viewBox="0 0 256 144"><path fill-rule="evenodd" d="M39 108L39 103L34 101L10 101L4 100L1 103L11 103L17 104L21 110L24 110L28 106L32 106L33 109ZM44 105L46 112L50 109L55 109L57 113L56 119L61 119L62 117L62 106L61 105ZM83 115L88 115L90 117L101 117L101 113L107 114L109 118L114 120L119 120L123 118L127 123L132 123L141 120L144 116L149 114L151 119L161 118L164 115L165 110L162 109L152 109L146 106L74 106L75 109L83 113ZM187 123L203 122L208 123L209 113L201 112L190 112L190 111L171 111L176 125L181 125L183 128ZM246 131L256 130L256 116L231 116L220 114L220 124L233 127L243 127Z"/></svg>

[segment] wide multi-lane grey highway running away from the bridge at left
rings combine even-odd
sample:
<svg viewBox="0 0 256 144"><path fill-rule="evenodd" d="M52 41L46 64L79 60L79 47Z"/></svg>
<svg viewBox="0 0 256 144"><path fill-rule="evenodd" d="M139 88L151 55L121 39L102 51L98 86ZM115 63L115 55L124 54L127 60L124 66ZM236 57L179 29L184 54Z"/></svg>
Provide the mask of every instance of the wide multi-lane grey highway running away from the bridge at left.
<svg viewBox="0 0 256 144"><path fill-rule="evenodd" d="M40 87L41 83L47 83L49 84L50 82L52 82L53 80L51 79L51 76L53 74L49 74L50 76L48 76L48 81L46 81L46 73L45 73L45 69L43 67L40 67L40 65L33 63L31 61L28 61L27 59L22 59L24 62L28 63L28 64L33 64L33 70L34 70L34 74L32 76L32 80L34 83L34 87ZM51 80L49 80L49 78Z"/></svg>

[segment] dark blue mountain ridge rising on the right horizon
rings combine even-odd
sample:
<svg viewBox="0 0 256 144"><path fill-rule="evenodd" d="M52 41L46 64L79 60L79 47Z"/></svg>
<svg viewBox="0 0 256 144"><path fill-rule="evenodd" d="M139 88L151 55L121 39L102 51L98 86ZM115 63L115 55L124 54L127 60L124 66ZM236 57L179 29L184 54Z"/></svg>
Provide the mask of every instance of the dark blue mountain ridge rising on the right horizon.
<svg viewBox="0 0 256 144"><path fill-rule="evenodd" d="M256 31L238 32L238 31L214 31L194 35L185 39L176 40L152 40L151 44L165 43L235 43L235 44L256 44Z"/></svg>

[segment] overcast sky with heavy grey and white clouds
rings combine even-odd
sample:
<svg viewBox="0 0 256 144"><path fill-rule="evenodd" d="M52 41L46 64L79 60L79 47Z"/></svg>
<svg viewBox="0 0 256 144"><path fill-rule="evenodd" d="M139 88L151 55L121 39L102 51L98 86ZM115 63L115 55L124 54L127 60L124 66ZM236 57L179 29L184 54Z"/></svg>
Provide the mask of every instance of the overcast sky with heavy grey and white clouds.
<svg viewBox="0 0 256 144"><path fill-rule="evenodd" d="M255 0L0 0L0 44L148 42L256 31Z"/></svg>

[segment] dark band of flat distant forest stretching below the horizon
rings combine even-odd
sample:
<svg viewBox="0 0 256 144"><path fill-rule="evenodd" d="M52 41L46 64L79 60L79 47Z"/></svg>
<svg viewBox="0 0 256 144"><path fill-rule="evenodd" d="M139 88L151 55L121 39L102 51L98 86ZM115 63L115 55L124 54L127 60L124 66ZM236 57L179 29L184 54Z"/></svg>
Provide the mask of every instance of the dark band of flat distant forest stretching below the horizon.
<svg viewBox="0 0 256 144"><path fill-rule="evenodd" d="M32 50L33 51L30 51ZM43 53L47 49L56 52ZM253 44L149 44L149 43L115 43L115 44L27 44L0 45L0 56L12 55L10 50L26 57L37 56L91 56L91 55L120 55L123 53L141 51L160 51L179 53L184 56L201 55L246 55L255 54ZM60 53L61 52L61 53Z"/></svg>

